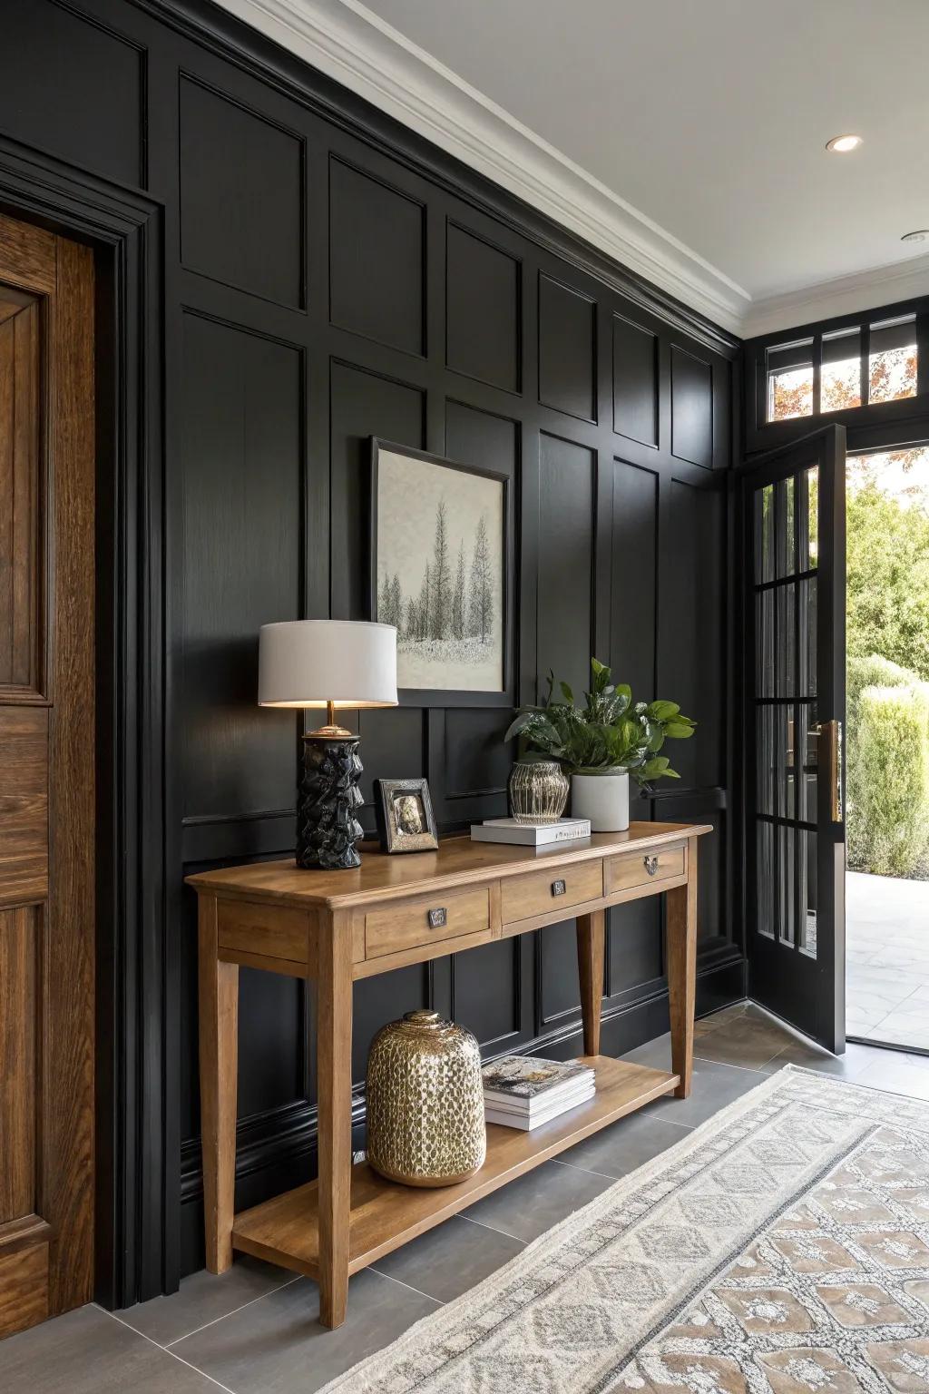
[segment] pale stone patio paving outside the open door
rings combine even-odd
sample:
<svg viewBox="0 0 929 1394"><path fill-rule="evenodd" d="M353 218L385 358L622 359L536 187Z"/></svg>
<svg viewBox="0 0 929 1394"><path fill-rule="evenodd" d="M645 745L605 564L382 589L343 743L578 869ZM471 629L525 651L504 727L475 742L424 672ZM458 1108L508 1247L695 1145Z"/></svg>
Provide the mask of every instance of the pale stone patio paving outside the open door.
<svg viewBox="0 0 929 1394"><path fill-rule="evenodd" d="M929 1050L929 881L845 878L850 1036Z"/></svg>

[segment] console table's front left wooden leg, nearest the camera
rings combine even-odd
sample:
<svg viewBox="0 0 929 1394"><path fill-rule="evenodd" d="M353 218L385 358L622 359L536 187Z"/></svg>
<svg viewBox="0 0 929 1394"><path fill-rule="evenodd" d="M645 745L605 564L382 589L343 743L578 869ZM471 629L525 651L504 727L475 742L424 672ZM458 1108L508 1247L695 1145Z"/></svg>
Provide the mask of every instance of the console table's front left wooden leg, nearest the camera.
<svg viewBox="0 0 929 1394"><path fill-rule="evenodd" d="M348 1303L351 1209L351 928L334 914L319 935L319 1320L341 1326Z"/></svg>

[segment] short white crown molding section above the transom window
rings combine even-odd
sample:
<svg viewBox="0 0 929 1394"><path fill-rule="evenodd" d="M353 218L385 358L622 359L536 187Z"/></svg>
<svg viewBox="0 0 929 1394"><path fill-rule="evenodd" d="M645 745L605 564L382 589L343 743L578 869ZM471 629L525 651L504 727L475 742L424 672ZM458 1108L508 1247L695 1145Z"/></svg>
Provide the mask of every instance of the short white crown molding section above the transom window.
<svg viewBox="0 0 929 1394"><path fill-rule="evenodd" d="M755 339L780 329L811 325L818 319L832 319L834 315L877 309L898 300L915 300L918 296L929 296L929 255L873 266L871 270L752 301L742 322L742 336Z"/></svg>

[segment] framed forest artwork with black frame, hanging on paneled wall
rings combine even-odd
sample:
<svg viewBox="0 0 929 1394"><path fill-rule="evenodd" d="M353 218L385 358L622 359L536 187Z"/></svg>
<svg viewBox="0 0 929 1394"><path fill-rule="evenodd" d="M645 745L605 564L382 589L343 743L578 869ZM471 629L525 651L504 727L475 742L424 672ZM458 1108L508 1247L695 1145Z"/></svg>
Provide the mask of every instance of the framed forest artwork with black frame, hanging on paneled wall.
<svg viewBox="0 0 929 1394"><path fill-rule="evenodd" d="M409 705L513 703L510 478L372 439L372 618Z"/></svg>

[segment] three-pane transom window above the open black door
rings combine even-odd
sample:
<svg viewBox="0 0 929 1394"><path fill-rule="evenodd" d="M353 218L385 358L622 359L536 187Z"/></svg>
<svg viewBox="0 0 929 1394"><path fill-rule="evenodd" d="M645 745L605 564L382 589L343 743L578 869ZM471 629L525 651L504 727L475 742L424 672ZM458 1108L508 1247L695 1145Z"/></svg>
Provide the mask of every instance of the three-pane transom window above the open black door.
<svg viewBox="0 0 929 1394"><path fill-rule="evenodd" d="M819 367L819 381L816 375ZM916 318L851 325L767 348L767 420L916 396Z"/></svg>

